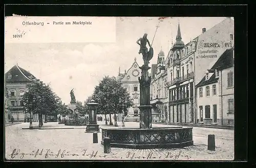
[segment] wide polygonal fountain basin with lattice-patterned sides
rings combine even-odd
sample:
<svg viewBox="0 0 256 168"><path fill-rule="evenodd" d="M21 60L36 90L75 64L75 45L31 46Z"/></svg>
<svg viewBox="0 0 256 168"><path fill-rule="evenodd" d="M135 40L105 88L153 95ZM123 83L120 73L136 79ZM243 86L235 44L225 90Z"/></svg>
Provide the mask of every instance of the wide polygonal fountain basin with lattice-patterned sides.
<svg viewBox="0 0 256 168"><path fill-rule="evenodd" d="M194 145L192 127L102 128L102 141L109 137L111 147L132 149L183 148Z"/></svg>

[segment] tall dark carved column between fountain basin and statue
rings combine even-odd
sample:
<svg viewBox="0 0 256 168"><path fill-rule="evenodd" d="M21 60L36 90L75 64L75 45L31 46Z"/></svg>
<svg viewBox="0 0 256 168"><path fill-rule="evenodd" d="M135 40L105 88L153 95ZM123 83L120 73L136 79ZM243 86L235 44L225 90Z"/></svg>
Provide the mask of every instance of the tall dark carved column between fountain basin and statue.
<svg viewBox="0 0 256 168"><path fill-rule="evenodd" d="M144 64L139 67L142 71L140 82L140 128L152 128L152 105L150 105L150 83L151 77L148 70L151 69Z"/></svg>

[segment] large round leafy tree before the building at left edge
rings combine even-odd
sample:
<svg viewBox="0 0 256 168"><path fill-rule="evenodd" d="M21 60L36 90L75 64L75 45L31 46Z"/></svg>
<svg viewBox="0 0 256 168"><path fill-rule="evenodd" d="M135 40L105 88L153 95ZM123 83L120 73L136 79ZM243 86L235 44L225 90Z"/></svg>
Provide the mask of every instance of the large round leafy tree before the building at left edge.
<svg viewBox="0 0 256 168"><path fill-rule="evenodd" d="M39 127L43 125L42 115L52 115L58 108L60 98L57 97L49 85L42 82L32 82L27 86L28 92L23 95L26 113L38 114Z"/></svg>

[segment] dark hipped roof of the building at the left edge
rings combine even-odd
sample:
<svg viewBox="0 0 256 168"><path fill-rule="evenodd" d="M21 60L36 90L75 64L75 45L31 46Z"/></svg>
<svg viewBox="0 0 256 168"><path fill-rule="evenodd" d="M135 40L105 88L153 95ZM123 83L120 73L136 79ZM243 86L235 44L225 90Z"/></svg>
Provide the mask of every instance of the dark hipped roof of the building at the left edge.
<svg viewBox="0 0 256 168"><path fill-rule="evenodd" d="M8 79L8 75L11 74L11 79ZM14 65L8 72L5 74L5 81L6 82L30 82L32 79L29 77L35 78L30 72L26 71L25 69Z"/></svg>

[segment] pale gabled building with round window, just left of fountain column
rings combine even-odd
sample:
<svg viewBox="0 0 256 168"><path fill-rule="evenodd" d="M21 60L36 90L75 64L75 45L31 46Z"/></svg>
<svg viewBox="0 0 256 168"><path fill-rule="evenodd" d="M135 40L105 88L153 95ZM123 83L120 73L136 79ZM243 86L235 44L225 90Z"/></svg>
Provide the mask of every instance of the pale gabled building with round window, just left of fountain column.
<svg viewBox="0 0 256 168"><path fill-rule="evenodd" d="M117 80L122 83L122 87L126 89L127 92L130 93L131 98L134 101L133 107L128 108L128 112L124 114L127 116L125 121L139 121L139 105L140 105L140 83L139 76L141 76L141 70L139 69L139 65L136 62L136 58L134 59L134 63L129 68L129 70L124 71L124 73L120 72L117 76Z"/></svg>

